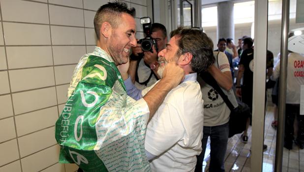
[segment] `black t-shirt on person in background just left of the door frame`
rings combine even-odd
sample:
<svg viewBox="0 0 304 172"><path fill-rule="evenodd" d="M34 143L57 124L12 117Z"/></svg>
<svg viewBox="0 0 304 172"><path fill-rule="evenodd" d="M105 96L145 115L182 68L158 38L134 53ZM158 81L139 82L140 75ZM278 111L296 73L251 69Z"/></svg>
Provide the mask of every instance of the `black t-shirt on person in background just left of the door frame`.
<svg viewBox="0 0 304 172"><path fill-rule="evenodd" d="M244 66L243 86L253 87L253 49L248 48L242 52L240 65Z"/></svg>

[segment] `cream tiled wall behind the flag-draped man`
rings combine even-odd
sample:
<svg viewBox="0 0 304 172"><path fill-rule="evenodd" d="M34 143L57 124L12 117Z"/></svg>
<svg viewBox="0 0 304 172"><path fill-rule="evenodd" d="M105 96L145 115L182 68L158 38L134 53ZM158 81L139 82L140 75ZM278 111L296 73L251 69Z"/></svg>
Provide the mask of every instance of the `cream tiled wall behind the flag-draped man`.
<svg viewBox="0 0 304 172"><path fill-rule="evenodd" d="M59 164L55 122L71 74L96 43L93 17L109 0L0 0L0 172L75 172ZM123 0L147 16L146 0Z"/></svg>

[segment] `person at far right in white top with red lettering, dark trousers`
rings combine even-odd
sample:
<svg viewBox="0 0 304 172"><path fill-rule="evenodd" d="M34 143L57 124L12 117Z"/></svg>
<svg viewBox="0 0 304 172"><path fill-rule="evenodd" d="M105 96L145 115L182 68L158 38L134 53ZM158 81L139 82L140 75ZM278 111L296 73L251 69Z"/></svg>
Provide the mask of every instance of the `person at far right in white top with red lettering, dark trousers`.
<svg viewBox="0 0 304 172"><path fill-rule="evenodd" d="M289 48L289 47L288 47ZM272 80L276 80L280 74L280 62L274 67ZM304 57L299 53L290 52L287 63L287 87L286 87L286 117L284 147L291 150L294 141L294 121L297 116L298 135L295 143L300 149L304 148L304 116L300 115L301 85L304 85Z"/></svg>

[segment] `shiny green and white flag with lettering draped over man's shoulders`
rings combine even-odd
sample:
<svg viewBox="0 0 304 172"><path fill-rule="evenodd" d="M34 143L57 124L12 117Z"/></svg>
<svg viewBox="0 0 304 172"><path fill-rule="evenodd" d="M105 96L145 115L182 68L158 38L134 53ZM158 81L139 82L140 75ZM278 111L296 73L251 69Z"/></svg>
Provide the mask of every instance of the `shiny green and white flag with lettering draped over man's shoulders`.
<svg viewBox="0 0 304 172"><path fill-rule="evenodd" d="M89 56L56 122L60 163L85 172L150 172L145 155L149 108L126 95L116 65Z"/></svg>

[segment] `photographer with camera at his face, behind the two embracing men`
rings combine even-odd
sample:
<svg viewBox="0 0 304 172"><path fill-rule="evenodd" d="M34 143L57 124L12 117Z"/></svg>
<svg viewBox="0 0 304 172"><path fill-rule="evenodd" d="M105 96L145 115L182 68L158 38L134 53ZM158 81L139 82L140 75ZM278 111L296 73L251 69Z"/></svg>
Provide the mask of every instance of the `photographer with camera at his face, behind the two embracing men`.
<svg viewBox="0 0 304 172"><path fill-rule="evenodd" d="M149 36L149 33L145 32L145 34L147 37ZM149 87L159 79L156 73L156 69L158 68L156 63L157 53L166 47L167 30L165 26L160 23L153 23L151 37L156 40L157 44L157 47L152 47L152 52L143 51L140 43L137 43L136 47L132 47L128 72L132 82L139 89Z"/></svg>

